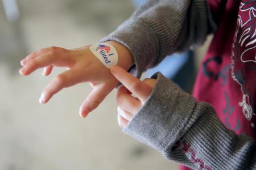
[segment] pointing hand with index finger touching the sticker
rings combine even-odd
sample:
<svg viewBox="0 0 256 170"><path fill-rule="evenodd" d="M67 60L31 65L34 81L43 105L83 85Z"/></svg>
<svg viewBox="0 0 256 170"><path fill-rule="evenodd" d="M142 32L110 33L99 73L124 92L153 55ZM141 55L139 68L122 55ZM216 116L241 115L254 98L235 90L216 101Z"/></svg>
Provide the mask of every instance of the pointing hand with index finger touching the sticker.
<svg viewBox="0 0 256 170"><path fill-rule="evenodd" d="M116 96L118 125L123 128L146 102L156 80L144 79L142 82L118 66L110 68L110 72L123 84L118 88Z"/></svg>

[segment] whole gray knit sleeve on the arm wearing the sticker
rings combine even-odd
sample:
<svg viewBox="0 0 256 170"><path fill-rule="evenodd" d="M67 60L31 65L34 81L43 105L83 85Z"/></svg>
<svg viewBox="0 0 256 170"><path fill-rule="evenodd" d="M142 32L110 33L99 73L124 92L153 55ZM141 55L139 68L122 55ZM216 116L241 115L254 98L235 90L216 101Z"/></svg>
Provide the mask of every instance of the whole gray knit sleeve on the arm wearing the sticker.
<svg viewBox="0 0 256 170"><path fill-rule="evenodd" d="M101 42L125 45L139 77L168 54L202 44L215 28L206 0L148 0Z"/></svg>

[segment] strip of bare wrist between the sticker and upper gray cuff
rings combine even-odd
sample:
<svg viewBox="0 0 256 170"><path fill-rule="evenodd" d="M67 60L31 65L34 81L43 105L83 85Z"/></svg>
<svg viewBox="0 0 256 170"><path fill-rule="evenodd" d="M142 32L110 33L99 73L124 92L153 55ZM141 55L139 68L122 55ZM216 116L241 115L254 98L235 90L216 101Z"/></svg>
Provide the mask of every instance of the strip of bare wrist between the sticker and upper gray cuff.
<svg viewBox="0 0 256 170"><path fill-rule="evenodd" d="M131 66L134 64L133 55L131 54L130 50L121 43L117 41L106 41L106 44L113 45L115 50L118 53L118 63L117 65L122 67L125 70L130 69Z"/></svg>

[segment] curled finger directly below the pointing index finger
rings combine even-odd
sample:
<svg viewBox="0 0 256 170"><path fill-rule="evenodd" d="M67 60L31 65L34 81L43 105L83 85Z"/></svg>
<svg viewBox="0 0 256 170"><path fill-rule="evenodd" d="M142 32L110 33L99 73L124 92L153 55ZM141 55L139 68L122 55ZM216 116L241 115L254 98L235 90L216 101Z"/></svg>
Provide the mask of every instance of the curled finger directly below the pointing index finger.
<svg viewBox="0 0 256 170"><path fill-rule="evenodd" d="M120 86L117 90L117 105L125 111L136 114L141 108L141 101L129 95L127 88Z"/></svg>

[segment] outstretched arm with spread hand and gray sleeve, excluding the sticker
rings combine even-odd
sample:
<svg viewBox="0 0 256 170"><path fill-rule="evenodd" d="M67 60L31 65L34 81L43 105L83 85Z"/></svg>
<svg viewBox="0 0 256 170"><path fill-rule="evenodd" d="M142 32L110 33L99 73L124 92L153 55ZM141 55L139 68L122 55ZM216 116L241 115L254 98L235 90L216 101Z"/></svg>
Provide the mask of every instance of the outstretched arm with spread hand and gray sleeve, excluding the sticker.
<svg viewBox="0 0 256 170"><path fill-rule="evenodd" d="M204 40L212 31L210 20L206 0L151 0L102 41L115 46L119 66L128 70L135 63L137 76L140 76L142 71L159 63L168 53ZM22 75L29 75L42 67L43 75L51 74L53 66L68 68L44 88L40 103L47 103L65 87L90 82L93 90L81 104L79 112L82 117L96 109L117 86L117 80L94 57L89 46L72 50L55 46L40 49L24 58L21 64L23 67L19 72Z"/></svg>

